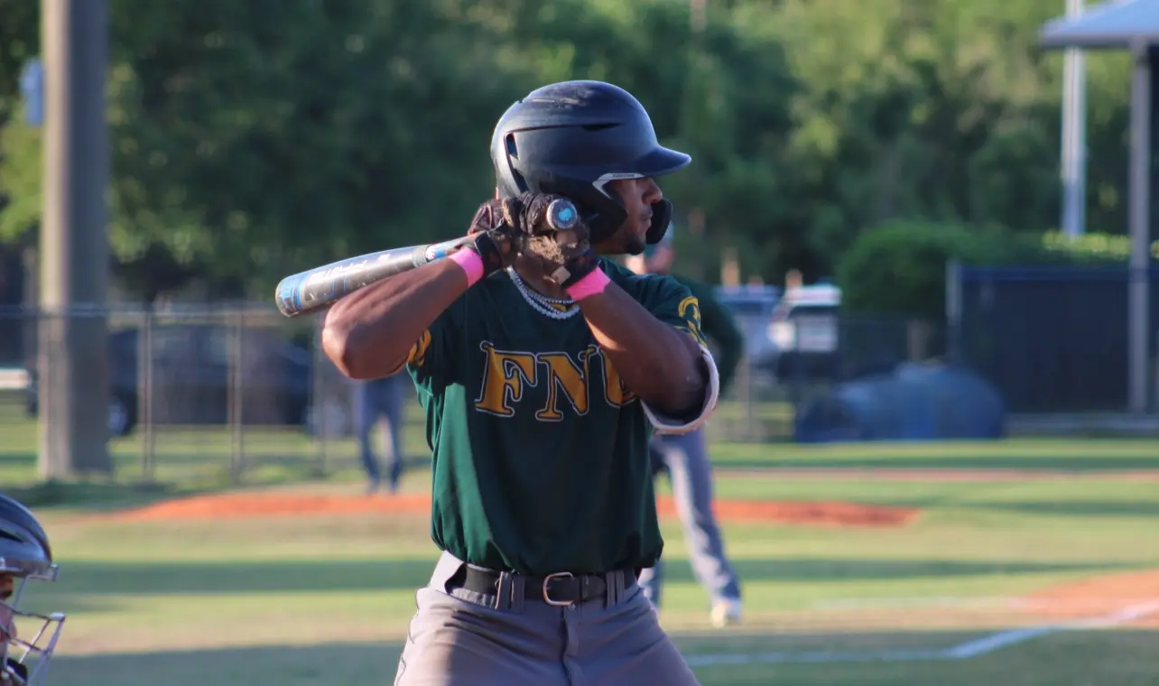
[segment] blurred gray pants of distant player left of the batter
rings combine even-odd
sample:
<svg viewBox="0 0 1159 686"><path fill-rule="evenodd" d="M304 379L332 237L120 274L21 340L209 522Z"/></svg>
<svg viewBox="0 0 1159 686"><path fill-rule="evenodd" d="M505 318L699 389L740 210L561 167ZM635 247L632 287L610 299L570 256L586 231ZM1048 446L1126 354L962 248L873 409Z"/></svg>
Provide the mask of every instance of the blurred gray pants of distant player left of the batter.
<svg viewBox="0 0 1159 686"><path fill-rule="evenodd" d="M371 443L371 431L384 415L391 429L391 490L398 488L402 477L402 414L406 394L411 388L414 384L406 372L355 385L355 436L372 488L381 483L382 474Z"/></svg>

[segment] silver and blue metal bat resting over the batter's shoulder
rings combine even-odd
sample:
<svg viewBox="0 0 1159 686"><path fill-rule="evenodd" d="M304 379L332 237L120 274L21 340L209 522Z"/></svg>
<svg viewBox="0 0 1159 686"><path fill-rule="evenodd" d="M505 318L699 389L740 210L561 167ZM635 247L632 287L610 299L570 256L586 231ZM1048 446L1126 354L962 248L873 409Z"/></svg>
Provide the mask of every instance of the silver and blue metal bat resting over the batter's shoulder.
<svg viewBox="0 0 1159 686"><path fill-rule="evenodd" d="M571 200L559 198L547 206L547 224L555 231L575 228L580 212ZM334 305L358 289L446 257L471 240L460 236L440 243L379 250L348 257L287 276L275 289L275 301L285 316L299 316Z"/></svg>

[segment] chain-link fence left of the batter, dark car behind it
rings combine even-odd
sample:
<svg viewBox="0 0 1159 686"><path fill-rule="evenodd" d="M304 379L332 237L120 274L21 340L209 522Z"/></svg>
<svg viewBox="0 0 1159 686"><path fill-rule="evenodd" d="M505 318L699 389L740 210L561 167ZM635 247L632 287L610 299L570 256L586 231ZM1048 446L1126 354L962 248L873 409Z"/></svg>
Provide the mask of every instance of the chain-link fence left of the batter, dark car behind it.
<svg viewBox="0 0 1159 686"><path fill-rule="evenodd" d="M66 425L99 421L118 479L269 480L353 467L352 382L321 353L319 323L253 305L2 312L9 461L35 462ZM100 374L86 368L101 358ZM86 387L94 384L103 391ZM417 414L408 418L418 426ZM415 437L407 432L408 452L421 447Z"/></svg>

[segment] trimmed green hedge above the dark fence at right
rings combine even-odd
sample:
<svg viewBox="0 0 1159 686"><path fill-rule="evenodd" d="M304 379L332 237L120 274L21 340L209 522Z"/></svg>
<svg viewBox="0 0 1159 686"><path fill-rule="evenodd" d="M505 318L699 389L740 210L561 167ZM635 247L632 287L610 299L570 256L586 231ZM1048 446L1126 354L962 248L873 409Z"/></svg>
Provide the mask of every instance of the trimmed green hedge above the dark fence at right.
<svg viewBox="0 0 1159 686"><path fill-rule="evenodd" d="M1159 256L1159 242L1152 246ZM1125 264L1130 239L1012 232L964 224L898 221L861 232L837 263L845 312L938 321L946 312L946 265Z"/></svg>

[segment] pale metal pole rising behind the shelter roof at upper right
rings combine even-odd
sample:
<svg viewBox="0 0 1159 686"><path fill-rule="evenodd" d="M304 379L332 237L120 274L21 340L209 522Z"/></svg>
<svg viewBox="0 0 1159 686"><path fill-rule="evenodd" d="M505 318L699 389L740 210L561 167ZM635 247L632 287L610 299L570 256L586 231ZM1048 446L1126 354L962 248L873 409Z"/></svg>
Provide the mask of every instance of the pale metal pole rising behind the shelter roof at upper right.
<svg viewBox="0 0 1159 686"><path fill-rule="evenodd" d="M1083 14L1083 0L1066 0L1066 16ZM1063 60L1063 232L1086 232L1086 65L1083 50L1066 49Z"/></svg>

